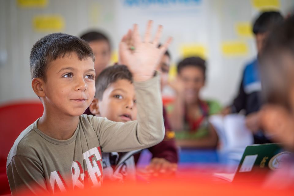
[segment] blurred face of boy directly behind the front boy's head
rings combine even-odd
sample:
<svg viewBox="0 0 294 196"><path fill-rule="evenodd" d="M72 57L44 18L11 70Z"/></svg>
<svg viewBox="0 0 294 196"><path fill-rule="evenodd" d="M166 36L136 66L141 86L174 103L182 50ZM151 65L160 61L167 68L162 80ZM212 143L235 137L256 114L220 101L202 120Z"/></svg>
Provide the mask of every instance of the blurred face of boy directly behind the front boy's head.
<svg viewBox="0 0 294 196"><path fill-rule="evenodd" d="M95 55L95 71L98 76L108 65L111 58L110 46L105 40L89 42Z"/></svg>

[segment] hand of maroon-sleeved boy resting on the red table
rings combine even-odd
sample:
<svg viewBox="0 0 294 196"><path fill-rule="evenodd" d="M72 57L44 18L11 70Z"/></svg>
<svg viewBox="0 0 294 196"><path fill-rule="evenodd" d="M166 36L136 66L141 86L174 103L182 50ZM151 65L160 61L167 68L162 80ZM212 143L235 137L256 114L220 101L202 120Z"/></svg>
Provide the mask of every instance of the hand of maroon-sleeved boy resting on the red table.
<svg viewBox="0 0 294 196"><path fill-rule="evenodd" d="M171 163L164 158L153 158L146 169L155 177L159 175L170 175L177 170L177 164Z"/></svg>

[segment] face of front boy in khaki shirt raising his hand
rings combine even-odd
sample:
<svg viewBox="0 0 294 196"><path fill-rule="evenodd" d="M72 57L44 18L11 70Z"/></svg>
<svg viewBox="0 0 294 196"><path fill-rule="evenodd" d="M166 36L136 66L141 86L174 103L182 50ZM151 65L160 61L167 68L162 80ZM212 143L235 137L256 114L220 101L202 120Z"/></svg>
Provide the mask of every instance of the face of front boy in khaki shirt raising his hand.
<svg viewBox="0 0 294 196"><path fill-rule="evenodd" d="M95 95L95 70L92 58L80 61L75 53L47 65L42 97L47 111L79 116Z"/></svg>

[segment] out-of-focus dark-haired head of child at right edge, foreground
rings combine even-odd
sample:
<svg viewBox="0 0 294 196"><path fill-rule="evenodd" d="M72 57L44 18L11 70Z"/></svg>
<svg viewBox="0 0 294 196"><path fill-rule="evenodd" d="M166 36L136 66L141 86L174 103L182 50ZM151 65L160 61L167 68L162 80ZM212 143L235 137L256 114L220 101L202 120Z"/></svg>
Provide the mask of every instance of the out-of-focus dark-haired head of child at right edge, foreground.
<svg viewBox="0 0 294 196"><path fill-rule="evenodd" d="M273 29L261 56L263 98L268 103L290 108L288 93L294 74L289 72L288 64L285 63L286 55L294 59L294 16Z"/></svg>

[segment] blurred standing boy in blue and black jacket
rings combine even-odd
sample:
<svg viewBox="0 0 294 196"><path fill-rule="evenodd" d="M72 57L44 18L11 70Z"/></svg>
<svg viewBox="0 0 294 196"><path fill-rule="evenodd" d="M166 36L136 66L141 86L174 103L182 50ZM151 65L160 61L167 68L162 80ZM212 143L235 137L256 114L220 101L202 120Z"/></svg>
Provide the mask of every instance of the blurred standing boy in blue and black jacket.
<svg viewBox="0 0 294 196"><path fill-rule="evenodd" d="M263 12L255 20L253 33L258 51L257 58L245 66L238 96L234 99L231 106L226 107L222 111L223 115L227 115L245 110L245 115L247 116L246 125L254 133L255 144L270 142L260 131L259 110L262 106L260 97L262 86L259 74L259 56L262 54L264 42L269 32L282 21L281 13L276 11Z"/></svg>

